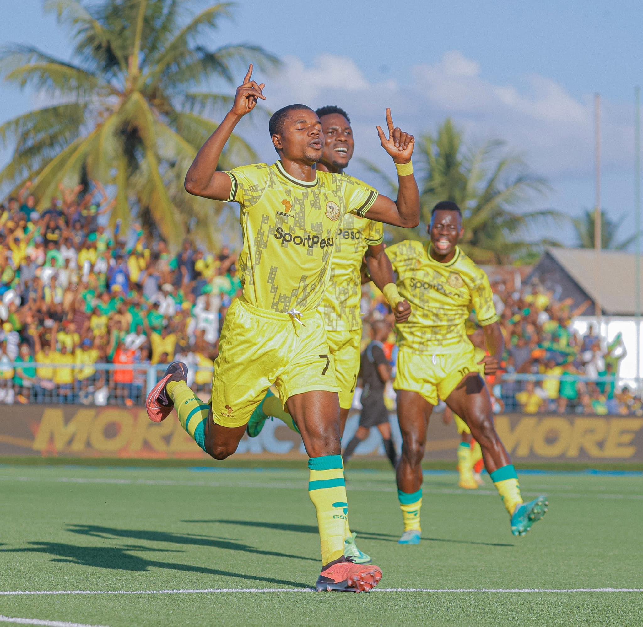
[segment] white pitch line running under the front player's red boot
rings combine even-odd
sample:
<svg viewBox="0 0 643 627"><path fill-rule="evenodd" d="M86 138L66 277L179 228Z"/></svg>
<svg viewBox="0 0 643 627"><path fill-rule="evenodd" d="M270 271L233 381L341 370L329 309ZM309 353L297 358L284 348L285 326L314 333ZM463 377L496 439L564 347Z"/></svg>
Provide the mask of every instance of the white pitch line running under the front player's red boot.
<svg viewBox="0 0 643 627"><path fill-rule="evenodd" d="M312 588L206 588L201 590L8 590L1 591L4 596L53 596L53 595L76 595L76 594L220 594L223 592L255 592L259 594L281 593L281 592L315 592ZM570 594L572 592L643 592L643 588L375 588L373 592L447 592L451 594L462 594L470 592L486 593L543 593L553 592L557 594ZM34 623L35 624L35 623ZM41 624L41 623L37 623ZM48 624L48 623L42 623ZM60 623L63 624L63 623ZM72 625L73 623L64 623Z"/></svg>

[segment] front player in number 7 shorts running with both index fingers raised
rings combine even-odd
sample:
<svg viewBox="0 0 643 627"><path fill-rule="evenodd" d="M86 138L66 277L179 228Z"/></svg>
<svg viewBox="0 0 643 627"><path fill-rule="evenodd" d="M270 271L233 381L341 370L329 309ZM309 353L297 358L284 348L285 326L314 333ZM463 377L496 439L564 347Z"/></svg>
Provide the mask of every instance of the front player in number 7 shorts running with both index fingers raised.
<svg viewBox="0 0 643 627"><path fill-rule="evenodd" d="M238 202L244 234L239 258L242 296L233 301L214 364L212 400L201 402L186 384L187 367L168 366L147 398L150 419L176 407L181 426L205 452L225 459L237 450L246 423L275 384L309 455L309 496L317 512L322 569L318 590L370 590L376 566L345 558L348 513L340 455L340 406L332 355L318 311L329 281L332 254L347 213L402 227L419 223L419 191L410 164L413 137L394 128L382 145L400 177L397 201L357 179L317 172L323 152L320 119L305 105L273 114L269 132L279 161L217 172L233 129L265 100L264 85L249 67L230 112L204 143L185 178L185 189L204 198Z"/></svg>

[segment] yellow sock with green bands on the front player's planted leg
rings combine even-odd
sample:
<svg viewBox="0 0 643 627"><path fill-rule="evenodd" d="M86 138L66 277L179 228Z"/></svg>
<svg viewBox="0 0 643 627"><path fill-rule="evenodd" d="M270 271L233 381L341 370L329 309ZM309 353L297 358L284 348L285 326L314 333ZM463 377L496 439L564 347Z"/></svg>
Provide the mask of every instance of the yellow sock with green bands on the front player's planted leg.
<svg viewBox="0 0 643 627"><path fill-rule="evenodd" d="M324 455L311 457L308 468L308 495L317 511L321 563L325 566L344 554L346 520L349 515L344 464L341 455Z"/></svg>

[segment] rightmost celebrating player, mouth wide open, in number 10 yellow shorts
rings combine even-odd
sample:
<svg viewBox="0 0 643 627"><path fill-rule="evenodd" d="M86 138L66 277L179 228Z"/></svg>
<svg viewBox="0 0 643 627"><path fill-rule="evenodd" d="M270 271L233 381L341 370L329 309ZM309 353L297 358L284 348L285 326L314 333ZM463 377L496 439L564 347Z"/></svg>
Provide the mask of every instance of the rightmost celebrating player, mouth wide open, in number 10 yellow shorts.
<svg viewBox="0 0 643 627"><path fill-rule="evenodd" d="M509 516L514 535L524 535L547 511L538 497L523 503L518 475L493 423L489 391L478 373L492 375L504 350L489 279L460 250L462 213L455 202L439 202L431 213L430 241L406 240L386 249L397 272L397 287L412 307L397 325L399 355L393 387L403 445L397 467L397 493L403 513L401 544L421 537L422 457L426 428L438 399L462 418L482 448L487 472ZM490 355L476 360L465 322L475 310Z"/></svg>

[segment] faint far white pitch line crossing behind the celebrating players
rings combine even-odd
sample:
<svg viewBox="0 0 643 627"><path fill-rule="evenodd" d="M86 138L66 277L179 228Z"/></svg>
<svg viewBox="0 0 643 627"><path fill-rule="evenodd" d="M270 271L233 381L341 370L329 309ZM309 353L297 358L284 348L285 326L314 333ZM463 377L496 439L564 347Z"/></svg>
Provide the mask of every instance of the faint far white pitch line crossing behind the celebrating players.
<svg viewBox="0 0 643 627"><path fill-rule="evenodd" d="M41 477L0 477L0 481L33 481L33 482L53 482L53 483L78 483L78 484L117 484L117 485L140 485L140 486L170 486L181 488L249 488L249 489L273 489L273 490L301 490L305 488L305 483L302 482L301 486L292 483L276 483L276 482L220 482L220 481L172 481L156 480L156 479L107 479L102 477L52 477L43 479ZM303 488L302 488L303 486ZM390 486L357 486L351 484L349 491L355 492L397 492L397 488ZM448 494L448 495L467 495L488 497L497 496L495 490L456 490L455 488L422 488L424 494ZM574 492L557 492L549 491L550 494L557 497L565 497L568 499L609 499L609 500L643 500L643 494L594 494L591 492L574 493ZM523 495L538 496L541 492L523 491Z"/></svg>

